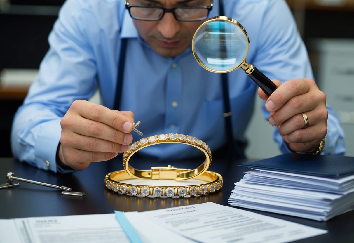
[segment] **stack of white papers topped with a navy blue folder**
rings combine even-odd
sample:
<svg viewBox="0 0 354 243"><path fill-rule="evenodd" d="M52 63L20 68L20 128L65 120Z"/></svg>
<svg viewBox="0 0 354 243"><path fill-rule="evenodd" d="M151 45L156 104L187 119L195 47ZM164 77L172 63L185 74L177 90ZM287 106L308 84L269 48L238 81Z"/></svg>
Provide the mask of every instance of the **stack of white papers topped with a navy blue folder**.
<svg viewBox="0 0 354 243"><path fill-rule="evenodd" d="M254 170L235 183L230 205L319 221L354 209L353 157L286 154L240 166Z"/></svg>

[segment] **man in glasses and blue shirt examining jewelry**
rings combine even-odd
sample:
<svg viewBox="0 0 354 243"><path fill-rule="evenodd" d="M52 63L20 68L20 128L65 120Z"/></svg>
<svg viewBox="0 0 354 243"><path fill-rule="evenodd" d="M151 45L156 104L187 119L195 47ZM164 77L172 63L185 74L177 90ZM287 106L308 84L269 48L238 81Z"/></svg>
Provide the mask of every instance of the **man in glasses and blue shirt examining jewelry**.
<svg viewBox="0 0 354 243"><path fill-rule="evenodd" d="M323 153L344 153L343 131L312 80L286 2L223 0L223 10L247 30L247 61L279 86L269 98L258 94L267 101L265 118L279 130L274 139L281 151L312 153L326 137ZM221 75L200 67L190 46L204 19L219 12L212 0L68 0L49 36L39 76L16 113L15 157L62 173L85 169L141 138L130 133L134 117L144 136L183 133L212 151L225 146ZM228 80L233 139L242 148L258 86L239 69L228 73ZM87 101L97 84L102 106ZM184 147L141 151L162 159L195 156Z"/></svg>

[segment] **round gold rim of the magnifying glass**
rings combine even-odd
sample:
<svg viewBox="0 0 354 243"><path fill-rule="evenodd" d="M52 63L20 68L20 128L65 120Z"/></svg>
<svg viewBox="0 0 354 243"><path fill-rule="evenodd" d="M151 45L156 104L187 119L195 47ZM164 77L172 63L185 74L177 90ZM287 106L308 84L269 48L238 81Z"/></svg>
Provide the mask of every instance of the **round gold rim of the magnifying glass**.
<svg viewBox="0 0 354 243"><path fill-rule="evenodd" d="M195 49L194 49L194 40L195 40L195 36L196 34L199 32L199 30L205 26L206 24L210 23L210 22L213 22L213 21L225 21L225 22L231 22L233 24L235 24L237 27L239 27L242 32L244 33L245 37L246 37L246 43L247 43L247 48L246 48L246 53L245 53L245 56L243 58L243 60L239 63L239 65L233 67L233 68L230 68L230 69L227 69L227 70L215 70L215 69L211 69L209 67L207 67L201 60L200 58L198 57L198 55L196 54L195 52ZM247 32L245 30L245 28L238 22L236 21L235 19L233 18L229 18L229 17L226 17L226 16L215 16L215 17L211 17L211 18L208 18L204 23L202 23L198 29L195 31L194 35L193 35L193 39L192 39L192 52L193 52L193 55L195 57L195 60L199 63L200 66L202 66L203 68L205 68L206 70L210 71L210 72L213 72L213 73L228 73L228 72L231 72L235 69L238 69L239 67L241 67L242 65L244 65L244 63L246 62L246 57L247 57L247 53L248 53L248 49L249 49L249 43L250 43L250 39L247 35Z"/></svg>

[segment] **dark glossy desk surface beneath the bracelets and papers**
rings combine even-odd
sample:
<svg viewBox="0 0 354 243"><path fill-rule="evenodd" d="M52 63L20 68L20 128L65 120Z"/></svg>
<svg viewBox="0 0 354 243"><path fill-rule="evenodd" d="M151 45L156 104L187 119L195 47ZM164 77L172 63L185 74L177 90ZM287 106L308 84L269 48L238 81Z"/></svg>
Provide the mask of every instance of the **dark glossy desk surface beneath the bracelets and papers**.
<svg viewBox="0 0 354 243"><path fill-rule="evenodd" d="M157 163L154 166L167 165ZM185 162L178 163L172 165L179 168L190 167L183 167ZM26 163L20 163L12 158L0 158L0 177L3 176L0 184L6 182L5 178L8 172L13 172L17 177L68 186L73 191L85 192L83 197L62 196L61 191L54 188L16 181L20 183L19 187L0 189L0 218L103 214L113 213L114 210L146 211L205 202L228 205L228 198L234 188L233 184L243 177L243 172L247 168L237 167L237 162L231 166L225 164L223 161L213 160L210 168L210 170L220 173L224 178L221 191L189 198L149 198L118 194L105 188L104 176L111 171L123 169L121 160L91 163L86 170L71 174L55 174L51 171L34 168ZM136 168L141 167L136 166ZM327 234L298 242L354 242L354 211L338 215L327 222L257 210L249 211L329 231Z"/></svg>

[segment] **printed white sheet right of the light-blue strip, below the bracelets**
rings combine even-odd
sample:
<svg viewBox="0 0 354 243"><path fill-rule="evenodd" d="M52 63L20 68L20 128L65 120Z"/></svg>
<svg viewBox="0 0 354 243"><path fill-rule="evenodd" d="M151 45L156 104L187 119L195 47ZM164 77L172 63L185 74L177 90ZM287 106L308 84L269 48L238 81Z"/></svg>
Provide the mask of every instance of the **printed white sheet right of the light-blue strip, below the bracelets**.
<svg viewBox="0 0 354 243"><path fill-rule="evenodd" d="M210 202L140 213L126 212L125 215L132 225L133 220L145 225L152 221L199 242L283 243L327 233L326 230ZM166 242L169 240L167 238Z"/></svg>

